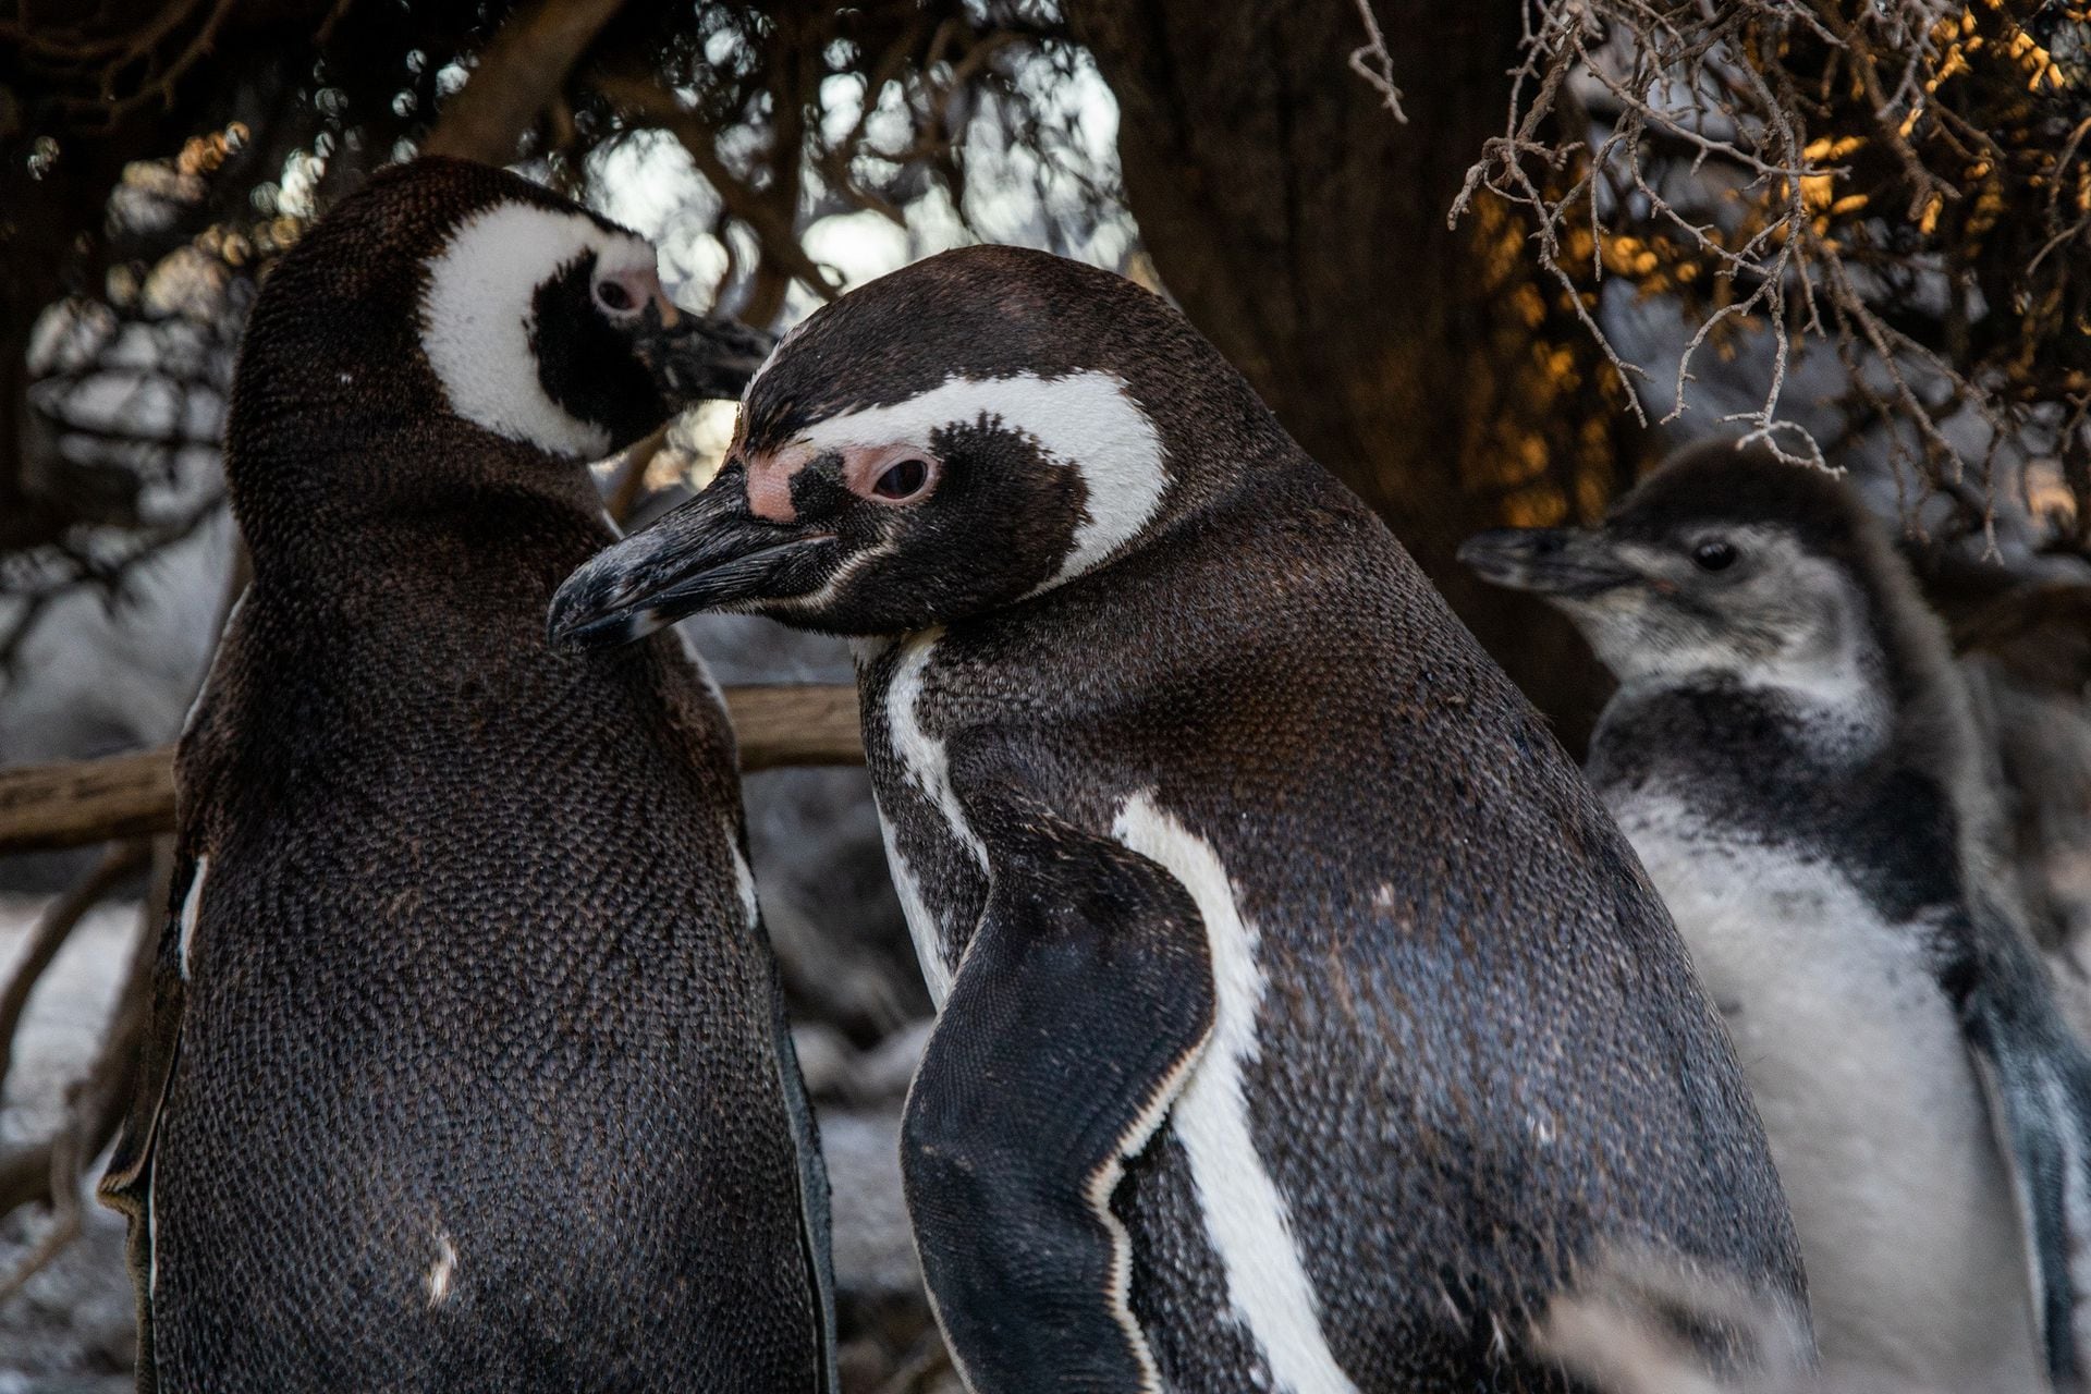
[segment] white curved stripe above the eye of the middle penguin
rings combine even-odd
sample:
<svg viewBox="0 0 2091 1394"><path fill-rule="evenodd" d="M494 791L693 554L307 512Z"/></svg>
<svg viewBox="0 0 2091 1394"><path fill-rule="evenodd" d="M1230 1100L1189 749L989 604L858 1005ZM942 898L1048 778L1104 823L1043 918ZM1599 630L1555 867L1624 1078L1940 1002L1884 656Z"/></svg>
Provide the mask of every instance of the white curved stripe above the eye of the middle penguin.
<svg viewBox="0 0 2091 1394"><path fill-rule="evenodd" d="M1081 472L1089 516L1075 529L1075 545L1054 581L1077 577L1117 552L1154 518L1169 489L1161 431L1123 378L1098 370L1058 378L953 374L907 401L815 422L795 445L811 445L815 454L893 441L926 447L933 433L981 418L1029 437L1048 464Z"/></svg>

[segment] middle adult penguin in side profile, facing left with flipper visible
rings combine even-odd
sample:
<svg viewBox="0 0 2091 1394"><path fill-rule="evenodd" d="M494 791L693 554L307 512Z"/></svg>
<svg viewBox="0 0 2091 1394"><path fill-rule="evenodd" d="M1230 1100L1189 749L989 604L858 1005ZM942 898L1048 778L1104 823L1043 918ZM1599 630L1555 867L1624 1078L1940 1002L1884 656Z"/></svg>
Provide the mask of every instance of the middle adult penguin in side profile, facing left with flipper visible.
<svg viewBox="0 0 2091 1394"><path fill-rule="evenodd" d="M1393 535L1161 299L983 247L757 374L552 627L859 635L941 1001L903 1124L1010 1390L1547 1390L1572 1264L1802 1292L1742 1074L1595 796Z"/></svg>

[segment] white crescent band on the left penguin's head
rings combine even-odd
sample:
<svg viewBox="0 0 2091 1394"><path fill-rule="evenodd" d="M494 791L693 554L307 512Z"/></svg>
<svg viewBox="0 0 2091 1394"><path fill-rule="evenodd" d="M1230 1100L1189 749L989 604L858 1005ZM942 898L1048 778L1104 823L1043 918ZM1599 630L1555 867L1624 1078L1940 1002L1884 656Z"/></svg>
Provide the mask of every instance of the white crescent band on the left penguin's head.
<svg viewBox="0 0 2091 1394"><path fill-rule="evenodd" d="M544 391L531 349L537 286L590 251L598 274L654 265L652 247L581 213L500 203L458 226L429 263L420 313L420 345L452 412L558 456L608 451L608 428Z"/></svg>

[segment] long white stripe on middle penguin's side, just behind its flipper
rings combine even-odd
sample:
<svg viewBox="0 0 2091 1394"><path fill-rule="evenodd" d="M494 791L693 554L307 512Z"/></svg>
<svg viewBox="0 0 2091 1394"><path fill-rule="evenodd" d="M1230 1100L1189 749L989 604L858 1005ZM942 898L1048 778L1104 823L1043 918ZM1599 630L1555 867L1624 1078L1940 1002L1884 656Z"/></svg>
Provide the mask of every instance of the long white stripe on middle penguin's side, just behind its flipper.
<svg viewBox="0 0 2091 1394"><path fill-rule="evenodd" d="M1242 917L1234 882L1213 844L1133 794L1112 823L1125 846L1161 863L1190 892L1213 953L1213 1037L1169 1122L1190 1158L1204 1233L1227 1277L1234 1319L1271 1367L1273 1390L1355 1394L1322 1331L1313 1279L1292 1237L1292 1216L1257 1154L1248 1129L1242 1066L1261 1055L1257 1009L1263 1003L1261 934Z"/></svg>

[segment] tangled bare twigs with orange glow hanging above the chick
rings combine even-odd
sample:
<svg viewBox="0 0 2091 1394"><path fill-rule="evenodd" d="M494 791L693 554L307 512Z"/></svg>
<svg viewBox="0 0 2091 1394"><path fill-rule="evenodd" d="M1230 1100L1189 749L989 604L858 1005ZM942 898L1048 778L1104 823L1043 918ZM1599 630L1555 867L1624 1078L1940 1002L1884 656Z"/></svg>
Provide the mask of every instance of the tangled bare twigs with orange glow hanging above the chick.
<svg viewBox="0 0 2091 1394"><path fill-rule="evenodd" d="M1696 328L1664 420L1685 410L1702 353L1731 353L1748 330L1769 382L1723 420L1788 460L1830 464L1784 403L1811 341L1844 366L1846 416L1878 424L1899 474L1930 489L1989 481L2005 447L2074 460L2085 422L2068 403L2091 380L2091 117L2081 79L2016 13L1526 0L1508 130L1453 215L1495 192L1531 217L1554 278L1575 245L1600 274L1675 297ZM1593 184L1541 178L1575 159ZM1593 309L1585 328L1635 374ZM1957 412L1984 433L1972 458L1943 424ZM2091 512L2091 495L2081 504Z"/></svg>

